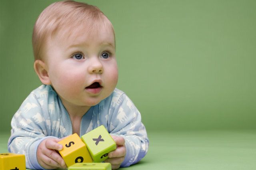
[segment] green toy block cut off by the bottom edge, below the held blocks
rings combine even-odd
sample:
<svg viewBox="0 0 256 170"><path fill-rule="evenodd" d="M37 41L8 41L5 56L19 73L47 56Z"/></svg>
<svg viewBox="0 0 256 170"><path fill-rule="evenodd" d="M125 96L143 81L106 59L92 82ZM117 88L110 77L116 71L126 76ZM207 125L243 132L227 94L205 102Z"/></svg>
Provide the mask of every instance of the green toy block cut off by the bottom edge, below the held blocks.
<svg viewBox="0 0 256 170"><path fill-rule="evenodd" d="M76 163L68 170L111 170L110 163Z"/></svg>

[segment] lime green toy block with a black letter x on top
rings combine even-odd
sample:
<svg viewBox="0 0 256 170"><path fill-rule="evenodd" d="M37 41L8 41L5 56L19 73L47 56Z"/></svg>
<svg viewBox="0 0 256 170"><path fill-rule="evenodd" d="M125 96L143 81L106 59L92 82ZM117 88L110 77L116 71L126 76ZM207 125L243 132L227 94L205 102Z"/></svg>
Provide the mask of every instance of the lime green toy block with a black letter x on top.
<svg viewBox="0 0 256 170"><path fill-rule="evenodd" d="M106 160L108 153L116 150L116 142L103 125L84 134L81 138L88 147L94 162Z"/></svg>

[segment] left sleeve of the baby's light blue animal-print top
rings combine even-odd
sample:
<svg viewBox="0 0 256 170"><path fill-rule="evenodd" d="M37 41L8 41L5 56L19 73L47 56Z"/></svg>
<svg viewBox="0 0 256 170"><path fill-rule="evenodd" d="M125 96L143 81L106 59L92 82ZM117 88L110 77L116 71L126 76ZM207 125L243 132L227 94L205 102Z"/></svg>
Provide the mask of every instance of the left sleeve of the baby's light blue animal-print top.
<svg viewBox="0 0 256 170"><path fill-rule="evenodd" d="M11 136L8 141L8 151L24 154L26 168L44 169L37 161L36 152L38 145L46 138L46 123L42 116L42 107L36 96L30 93L14 114L11 121Z"/></svg>

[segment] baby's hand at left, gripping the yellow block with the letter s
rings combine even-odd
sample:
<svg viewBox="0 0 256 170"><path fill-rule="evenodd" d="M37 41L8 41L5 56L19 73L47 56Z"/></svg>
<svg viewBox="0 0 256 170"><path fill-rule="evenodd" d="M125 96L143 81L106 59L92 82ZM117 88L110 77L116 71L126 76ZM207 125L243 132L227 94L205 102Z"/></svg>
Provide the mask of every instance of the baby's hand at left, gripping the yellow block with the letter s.
<svg viewBox="0 0 256 170"><path fill-rule="evenodd" d="M66 163L58 154L57 150L62 150L63 146L58 144L62 139L47 138L43 140L37 149L36 156L38 163L45 169L66 168Z"/></svg>

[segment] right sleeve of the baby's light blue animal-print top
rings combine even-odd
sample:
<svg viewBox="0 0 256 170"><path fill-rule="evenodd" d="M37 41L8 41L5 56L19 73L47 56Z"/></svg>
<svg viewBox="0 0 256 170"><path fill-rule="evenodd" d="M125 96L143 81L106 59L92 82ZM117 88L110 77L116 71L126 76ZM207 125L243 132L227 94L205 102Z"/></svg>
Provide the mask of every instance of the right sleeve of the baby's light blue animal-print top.
<svg viewBox="0 0 256 170"><path fill-rule="evenodd" d="M113 109L110 134L125 139L126 156L121 167L139 162L148 152L149 140L140 112L126 94L120 96Z"/></svg>

